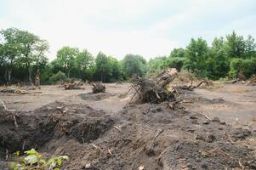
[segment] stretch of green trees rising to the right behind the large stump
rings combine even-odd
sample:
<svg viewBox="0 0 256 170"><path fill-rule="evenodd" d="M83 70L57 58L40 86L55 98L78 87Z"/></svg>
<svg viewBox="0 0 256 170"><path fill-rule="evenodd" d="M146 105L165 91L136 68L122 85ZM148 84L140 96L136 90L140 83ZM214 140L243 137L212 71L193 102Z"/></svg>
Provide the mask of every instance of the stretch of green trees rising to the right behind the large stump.
<svg viewBox="0 0 256 170"><path fill-rule="evenodd" d="M174 48L168 57L156 57L148 62L148 73L167 67L187 70L197 77L218 80L233 79L238 74L256 74L256 44L252 36L244 38L235 31L225 37L215 37L211 46L202 37L191 38L186 48Z"/></svg>

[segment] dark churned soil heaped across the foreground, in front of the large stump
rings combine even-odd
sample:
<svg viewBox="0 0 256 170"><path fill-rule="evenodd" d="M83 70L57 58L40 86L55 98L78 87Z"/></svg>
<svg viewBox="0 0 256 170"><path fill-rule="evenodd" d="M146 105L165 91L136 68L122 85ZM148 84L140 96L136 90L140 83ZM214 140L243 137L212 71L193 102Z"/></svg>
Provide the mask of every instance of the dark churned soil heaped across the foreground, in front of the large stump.
<svg viewBox="0 0 256 170"><path fill-rule="evenodd" d="M81 98L88 95L94 99ZM2 160L6 150L11 160L16 150L36 148L46 156L68 155L65 169L256 169L255 131L208 120L182 104L126 105L109 115L54 102L19 112L19 128L7 114L0 114Z"/></svg>

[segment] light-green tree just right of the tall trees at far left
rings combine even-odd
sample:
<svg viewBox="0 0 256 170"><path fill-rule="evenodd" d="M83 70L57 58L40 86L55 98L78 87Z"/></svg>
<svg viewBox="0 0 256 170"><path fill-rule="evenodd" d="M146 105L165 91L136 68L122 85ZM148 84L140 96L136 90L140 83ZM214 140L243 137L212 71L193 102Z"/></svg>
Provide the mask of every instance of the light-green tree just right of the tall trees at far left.
<svg viewBox="0 0 256 170"><path fill-rule="evenodd" d="M78 48L63 47L57 52L57 58L54 61L54 65L57 65L62 71L65 71L67 77L70 77L71 69L76 66L76 57L79 54Z"/></svg>

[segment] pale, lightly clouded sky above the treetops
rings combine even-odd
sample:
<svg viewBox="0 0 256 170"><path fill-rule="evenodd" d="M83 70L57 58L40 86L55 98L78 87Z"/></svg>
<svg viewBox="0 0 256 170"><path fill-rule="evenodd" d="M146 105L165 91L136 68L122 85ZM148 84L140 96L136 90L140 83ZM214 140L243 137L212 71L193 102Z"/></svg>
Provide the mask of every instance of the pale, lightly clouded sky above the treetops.
<svg viewBox="0 0 256 170"><path fill-rule="evenodd" d="M46 39L50 60L63 46L150 59L192 37L256 37L256 0L0 0L0 29L9 27Z"/></svg>

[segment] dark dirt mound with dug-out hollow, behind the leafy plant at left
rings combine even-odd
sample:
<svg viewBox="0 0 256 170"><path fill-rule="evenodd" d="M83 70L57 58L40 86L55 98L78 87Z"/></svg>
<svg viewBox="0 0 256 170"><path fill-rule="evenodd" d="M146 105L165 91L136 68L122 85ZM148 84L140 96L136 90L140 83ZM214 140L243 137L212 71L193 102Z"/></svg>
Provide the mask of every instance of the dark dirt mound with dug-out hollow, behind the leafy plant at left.
<svg viewBox="0 0 256 170"><path fill-rule="evenodd" d="M113 124L104 111L94 111L88 106L54 103L33 112L20 112L19 128L6 114L0 114L0 154L6 150L40 148L50 140L65 136L79 143L90 142L105 133Z"/></svg>

